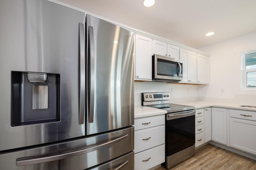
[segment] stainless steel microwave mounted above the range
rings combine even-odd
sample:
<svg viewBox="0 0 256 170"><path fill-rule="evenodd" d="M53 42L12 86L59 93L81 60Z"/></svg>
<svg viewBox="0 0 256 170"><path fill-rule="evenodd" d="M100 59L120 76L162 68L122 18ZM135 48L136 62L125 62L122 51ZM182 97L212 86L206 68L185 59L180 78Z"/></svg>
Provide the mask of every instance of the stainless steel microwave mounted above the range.
<svg viewBox="0 0 256 170"><path fill-rule="evenodd" d="M179 82L182 80L182 63L162 55L152 56L152 80L158 82Z"/></svg>

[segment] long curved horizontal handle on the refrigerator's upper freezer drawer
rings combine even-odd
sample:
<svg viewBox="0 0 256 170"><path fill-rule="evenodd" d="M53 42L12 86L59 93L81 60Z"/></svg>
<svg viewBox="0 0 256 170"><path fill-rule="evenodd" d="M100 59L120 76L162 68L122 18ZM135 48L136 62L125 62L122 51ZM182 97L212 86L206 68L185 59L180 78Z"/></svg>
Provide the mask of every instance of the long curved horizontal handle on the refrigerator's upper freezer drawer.
<svg viewBox="0 0 256 170"><path fill-rule="evenodd" d="M60 160L60 159L70 158L72 156L78 156L78 155L81 155L81 154L86 154L88 152L93 152L95 150L99 150L99 149L102 149L104 147L114 145L115 143L118 143L118 142L126 139L127 137L128 137L128 133L124 133L120 137L115 138L111 141L97 143L97 144L88 146L86 149L76 150L74 152L69 152L69 153L64 153L64 154L58 154L58 155L52 155L52 156L46 156L46 157L38 157L38 158L34 158L34 157L18 158L16 160L16 166L26 166L26 165L31 165L31 164L40 164L40 163L44 163L44 162L50 162L50 161L54 161L54 160Z"/></svg>

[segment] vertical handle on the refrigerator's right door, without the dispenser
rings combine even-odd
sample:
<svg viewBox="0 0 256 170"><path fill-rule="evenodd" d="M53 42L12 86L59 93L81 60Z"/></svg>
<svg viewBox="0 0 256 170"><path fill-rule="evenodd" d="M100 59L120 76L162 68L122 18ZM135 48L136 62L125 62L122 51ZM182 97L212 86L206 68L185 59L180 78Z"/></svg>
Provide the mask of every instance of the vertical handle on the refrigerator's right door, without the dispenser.
<svg viewBox="0 0 256 170"><path fill-rule="evenodd" d="M95 93L95 68L94 68L94 33L93 27L88 27L88 122L93 123L94 117L94 93Z"/></svg>

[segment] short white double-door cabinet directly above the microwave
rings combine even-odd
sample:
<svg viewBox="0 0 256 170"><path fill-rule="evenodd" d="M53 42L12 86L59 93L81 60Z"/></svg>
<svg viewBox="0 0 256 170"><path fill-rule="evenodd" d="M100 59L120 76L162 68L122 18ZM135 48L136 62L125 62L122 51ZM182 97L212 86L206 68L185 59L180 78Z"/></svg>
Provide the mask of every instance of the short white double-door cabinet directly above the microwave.
<svg viewBox="0 0 256 170"><path fill-rule="evenodd" d="M155 39L153 40L153 54L180 59L179 52L179 47L175 45L164 43Z"/></svg>

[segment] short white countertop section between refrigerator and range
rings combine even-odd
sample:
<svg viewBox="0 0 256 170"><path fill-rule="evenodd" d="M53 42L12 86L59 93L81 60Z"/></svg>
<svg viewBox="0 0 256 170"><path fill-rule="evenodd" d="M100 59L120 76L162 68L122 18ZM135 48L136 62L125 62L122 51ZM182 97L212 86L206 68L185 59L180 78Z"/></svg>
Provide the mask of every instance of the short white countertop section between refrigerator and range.
<svg viewBox="0 0 256 170"><path fill-rule="evenodd" d="M164 115L166 114L166 110L156 109L153 107L147 106L136 106L134 107L134 119L148 116L156 116L156 115Z"/></svg>

